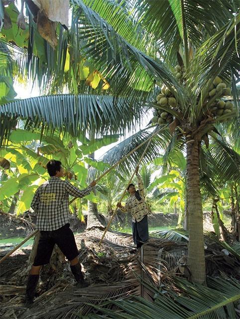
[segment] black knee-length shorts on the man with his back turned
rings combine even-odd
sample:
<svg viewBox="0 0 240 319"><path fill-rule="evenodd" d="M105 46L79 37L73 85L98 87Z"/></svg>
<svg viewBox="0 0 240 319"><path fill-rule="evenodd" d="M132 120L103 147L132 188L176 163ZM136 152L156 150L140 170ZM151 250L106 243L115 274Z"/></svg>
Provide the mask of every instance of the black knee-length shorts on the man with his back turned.
<svg viewBox="0 0 240 319"><path fill-rule="evenodd" d="M78 248L69 224L52 231L40 231L37 253L33 266L48 264L54 245L57 244L68 260L78 256Z"/></svg>

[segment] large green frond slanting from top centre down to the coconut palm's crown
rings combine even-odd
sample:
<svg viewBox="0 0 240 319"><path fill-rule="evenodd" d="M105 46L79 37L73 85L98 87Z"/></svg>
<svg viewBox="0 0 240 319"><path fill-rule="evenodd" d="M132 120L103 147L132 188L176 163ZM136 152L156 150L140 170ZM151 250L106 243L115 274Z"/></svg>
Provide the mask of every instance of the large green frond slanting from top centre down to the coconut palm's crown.
<svg viewBox="0 0 240 319"><path fill-rule="evenodd" d="M79 6L76 6L74 13L75 29L78 38L84 39L81 50L98 64L104 76L111 79L110 84L116 94L133 96L132 89L135 89L139 97L140 92L149 93L153 89L154 80L174 86L181 92L181 87L160 60L152 59L128 43L81 0L74 1Z"/></svg>

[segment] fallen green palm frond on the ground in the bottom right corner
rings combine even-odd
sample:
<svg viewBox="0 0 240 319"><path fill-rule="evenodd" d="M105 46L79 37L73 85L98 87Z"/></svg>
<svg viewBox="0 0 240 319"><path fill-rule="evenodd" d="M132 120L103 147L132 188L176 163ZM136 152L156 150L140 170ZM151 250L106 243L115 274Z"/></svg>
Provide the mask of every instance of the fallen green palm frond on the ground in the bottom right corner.
<svg viewBox="0 0 240 319"><path fill-rule="evenodd" d="M118 309L110 310L104 304L94 305L100 314L91 314L83 319L237 319L234 302L240 298L239 283L230 278L209 278L205 287L199 284L191 284L183 279L175 281L176 288L183 291L177 292L153 289L155 291L154 302L149 302L140 297L133 300L117 300L110 304Z"/></svg>

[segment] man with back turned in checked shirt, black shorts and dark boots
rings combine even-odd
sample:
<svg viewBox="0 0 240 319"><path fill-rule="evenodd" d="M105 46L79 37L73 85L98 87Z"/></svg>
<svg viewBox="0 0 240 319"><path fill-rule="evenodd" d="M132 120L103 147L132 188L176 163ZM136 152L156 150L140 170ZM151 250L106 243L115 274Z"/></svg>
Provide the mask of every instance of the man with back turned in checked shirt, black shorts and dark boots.
<svg viewBox="0 0 240 319"><path fill-rule="evenodd" d="M61 162L51 160L47 163L50 179L35 192L31 208L37 213L36 228L40 238L36 257L30 270L26 287L26 306L33 303L36 286L42 265L48 264L54 245L57 244L70 261L71 271L81 287L87 287L78 260L78 248L74 234L69 228L69 195L84 197L91 193L96 185L93 181L89 187L80 191L66 180L61 180L64 170Z"/></svg>

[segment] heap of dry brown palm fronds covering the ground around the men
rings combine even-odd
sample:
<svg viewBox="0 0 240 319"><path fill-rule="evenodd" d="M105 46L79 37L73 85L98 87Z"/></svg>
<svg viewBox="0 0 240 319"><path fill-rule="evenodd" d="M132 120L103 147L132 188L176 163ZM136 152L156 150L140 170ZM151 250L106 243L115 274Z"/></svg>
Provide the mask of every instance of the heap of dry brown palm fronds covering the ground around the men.
<svg viewBox="0 0 240 319"><path fill-rule="evenodd" d="M136 297L142 297L147 303L152 303L156 299L156 294L162 295L166 291L177 293L183 290L175 281L179 272L178 260L187 255L186 241L151 237L142 250L137 250L129 234L108 231L102 245L99 246L102 235L101 230L85 231L76 235L80 248L79 258L90 282L89 287L75 287L69 264L63 262L55 271L50 268L42 271L39 297L32 307L26 309L23 306L23 285L26 277L19 274L24 273L23 269L27 266L25 264L13 273L7 282L4 282L4 276L1 278L0 318L77 319L85 315L90 316L86 318L100 318L92 317L95 316L93 313L99 312L100 304L101 307L106 305L108 310L119 311L120 307L116 303L119 303L120 299L130 298L136 302ZM207 258L208 255L209 251L206 250ZM231 260L228 261L229 269L231 265L238 265L236 256L227 257ZM223 265L223 260L216 259L214 263L216 266ZM180 272L178 275L182 276Z"/></svg>

